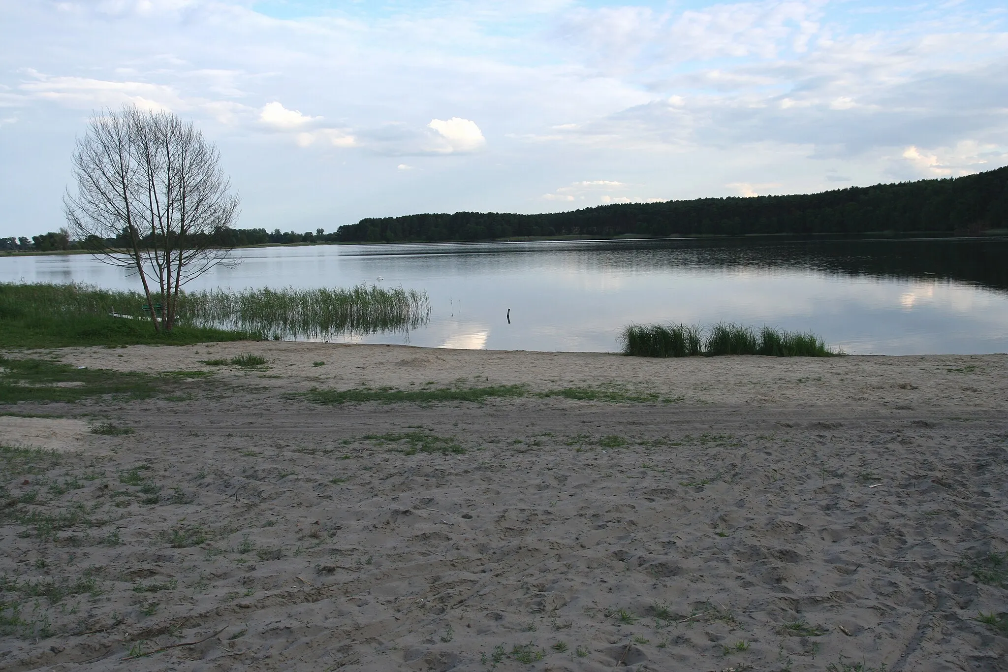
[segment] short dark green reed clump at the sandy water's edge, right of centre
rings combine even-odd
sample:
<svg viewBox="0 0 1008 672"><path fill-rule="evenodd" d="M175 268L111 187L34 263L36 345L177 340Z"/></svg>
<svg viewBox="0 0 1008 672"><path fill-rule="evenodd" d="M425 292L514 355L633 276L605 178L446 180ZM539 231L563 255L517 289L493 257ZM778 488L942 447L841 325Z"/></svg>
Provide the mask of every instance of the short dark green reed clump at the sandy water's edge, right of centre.
<svg viewBox="0 0 1008 672"><path fill-rule="evenodd" d="M744 324L630 324L620 337L623 354L633 357L696 357L765 355L768 357L832 357L842 355L814 333L772 326L755 329Z"/></svg>

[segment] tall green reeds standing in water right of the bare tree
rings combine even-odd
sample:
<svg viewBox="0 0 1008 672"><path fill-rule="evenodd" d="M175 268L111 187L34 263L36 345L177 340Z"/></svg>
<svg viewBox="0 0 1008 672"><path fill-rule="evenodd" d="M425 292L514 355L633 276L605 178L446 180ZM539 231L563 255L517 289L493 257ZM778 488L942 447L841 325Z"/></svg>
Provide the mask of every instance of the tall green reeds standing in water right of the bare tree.
<svg viewBox="0 0 1008 672"><path fill-rule="evenodd" d="M197 323L274 338L408 331L430 313L426 292L358 285L349 289L221 289L188 292L182 315Z"/></svg>

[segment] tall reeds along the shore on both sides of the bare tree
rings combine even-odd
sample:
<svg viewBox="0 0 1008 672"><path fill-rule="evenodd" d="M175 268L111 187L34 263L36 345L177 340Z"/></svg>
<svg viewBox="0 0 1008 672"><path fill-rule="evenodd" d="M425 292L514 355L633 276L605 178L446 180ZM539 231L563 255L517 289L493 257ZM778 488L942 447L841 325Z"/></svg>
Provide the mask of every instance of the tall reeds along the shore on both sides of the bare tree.
<svg viewBox="0 0 1008 672"><path fill-rule="evenodd" d="M136 291L82 283L0 283L0 321L16 319L24 329L32 325L46 331L81 327L88 333L126 326L131 331L150 329L149 322L144 326L141 308L146 302ZM112 313L134 319L114 319ZM429 313L426 292L401 287L215 289L179 296L175 329L226 329L242 338L277 340L320 338L408 331L424 324Z"/></svg>

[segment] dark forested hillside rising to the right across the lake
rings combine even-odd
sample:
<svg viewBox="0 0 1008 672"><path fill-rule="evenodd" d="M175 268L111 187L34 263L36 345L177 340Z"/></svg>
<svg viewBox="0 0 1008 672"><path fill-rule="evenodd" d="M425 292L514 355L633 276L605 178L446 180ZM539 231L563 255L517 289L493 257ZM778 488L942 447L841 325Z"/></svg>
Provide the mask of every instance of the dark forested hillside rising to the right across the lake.
<svg viewBox="0 0 1008 672"><path fill-rule="evenodd" d="M803 195L620 204L568 213L456 213L369 218L340 242L474 241L512 237L979 233L1008 228L1008 167L976 175L852 186Z"/></svg>

